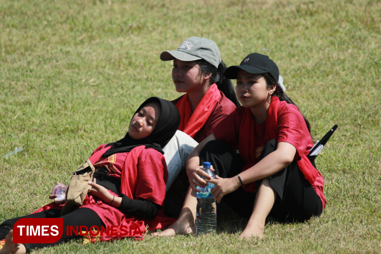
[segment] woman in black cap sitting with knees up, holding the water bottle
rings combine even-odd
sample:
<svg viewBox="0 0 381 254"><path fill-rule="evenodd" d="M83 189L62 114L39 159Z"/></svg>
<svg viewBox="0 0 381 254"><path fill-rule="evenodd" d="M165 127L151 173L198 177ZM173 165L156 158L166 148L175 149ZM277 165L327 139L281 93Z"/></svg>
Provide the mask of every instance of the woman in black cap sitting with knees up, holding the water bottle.
<svg viewBox="0 0 381 254"><path fill-rule="evenodd" d="M310 125L284 93L275 62L252 53L225 76L237 80L242 106L189 154L186 171L193 192L185 198L172 233L195 232L196 186L207 183L215 184L217 202L223 200L249 218L242 238L262 237L268 215L281 221L321 215L324 180L307 158L313 146ZM202 171L203 162L211 162L217 179Z"/></svg>

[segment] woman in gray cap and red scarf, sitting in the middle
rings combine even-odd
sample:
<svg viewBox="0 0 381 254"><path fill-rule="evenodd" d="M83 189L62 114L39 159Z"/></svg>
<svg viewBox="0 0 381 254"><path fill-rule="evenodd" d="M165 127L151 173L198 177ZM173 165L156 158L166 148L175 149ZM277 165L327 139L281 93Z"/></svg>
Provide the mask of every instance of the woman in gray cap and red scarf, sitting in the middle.
<svg viewBox="0 0 381 254"><path fill-rule="evenodd" d="M169 189L180 170L185 169L189 153L239 102L232 82L224 77L226 66L215 42L191 37L177 50L163 51L160 58L173 61L172 80L176 91L185 92L172 101L180 112L181 123L179 131L163 149Z"/></svg>

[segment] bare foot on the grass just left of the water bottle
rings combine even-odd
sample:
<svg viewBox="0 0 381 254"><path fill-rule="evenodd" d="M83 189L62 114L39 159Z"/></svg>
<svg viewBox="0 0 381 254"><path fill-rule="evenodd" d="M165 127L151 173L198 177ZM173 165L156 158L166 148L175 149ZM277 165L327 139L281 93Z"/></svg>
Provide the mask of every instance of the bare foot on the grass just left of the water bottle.
<svg viewBox="0 0 381 254"><path fill-rule="evenodd" d="M180 218L178 218L175 223L169 226L166 230L152 233L151 236L175 236L195 233L196 226L192 212L185 212L183 215L180 215Z"/></svg>

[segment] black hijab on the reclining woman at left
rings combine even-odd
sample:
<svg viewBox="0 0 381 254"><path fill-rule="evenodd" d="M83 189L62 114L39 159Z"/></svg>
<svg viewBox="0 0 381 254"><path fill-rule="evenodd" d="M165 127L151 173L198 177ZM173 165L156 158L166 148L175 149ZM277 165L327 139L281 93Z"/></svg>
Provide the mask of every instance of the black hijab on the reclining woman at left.
<svg viewBox="0 0 381 254"><path fill-rule="evenodd" d="M151 97L140 105L134 115L148 103L155 103L159 105L161 109L160 118L156 123L153 132L142 139L133 139L130 137L130 134L127 133L121 140L107 144L105 147L111 146L111 148L107 150L102 157L107 158L115 153L129 152L134 147L140 145L145 145L146 148L154 148L164 154L161 148L171 140L179 128L180 113L172 102L157 97Z"/></svg>

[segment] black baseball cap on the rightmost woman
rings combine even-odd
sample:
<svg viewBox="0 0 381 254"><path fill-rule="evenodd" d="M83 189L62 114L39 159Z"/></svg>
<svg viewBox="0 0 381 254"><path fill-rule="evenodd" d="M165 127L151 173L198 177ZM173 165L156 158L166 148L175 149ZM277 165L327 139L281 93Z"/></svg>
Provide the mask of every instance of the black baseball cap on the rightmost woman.
<svg viewBox="0 0 381 254"><path fill-rule="evenodd" d="M267 55L262 55L260 53L249 54L243 58L239 66L231 66L226 69L224 75L228 79L237 79L237 73L240 70L251 74L270 73L276 82L279 80L279 69L275 62Z"/></svg>

